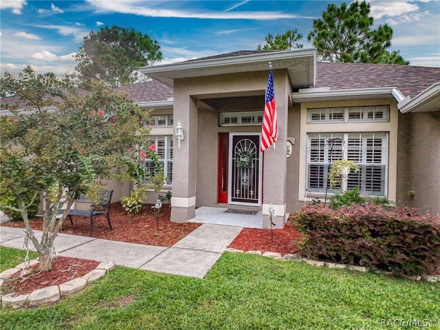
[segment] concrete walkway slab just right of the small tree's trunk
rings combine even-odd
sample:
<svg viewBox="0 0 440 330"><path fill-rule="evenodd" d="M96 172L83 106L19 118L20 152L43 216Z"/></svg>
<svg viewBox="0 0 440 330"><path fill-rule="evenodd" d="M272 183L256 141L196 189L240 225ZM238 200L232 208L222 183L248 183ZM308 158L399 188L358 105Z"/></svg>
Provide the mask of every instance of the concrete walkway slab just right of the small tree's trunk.
<svg viewBox="0 0 440 330"><path fill-rule="evenodd" d="M166 249L153 245L94 239L94 241L65 250L58 255L100 262L113 261L116 265L139 268Z"/></svg>

